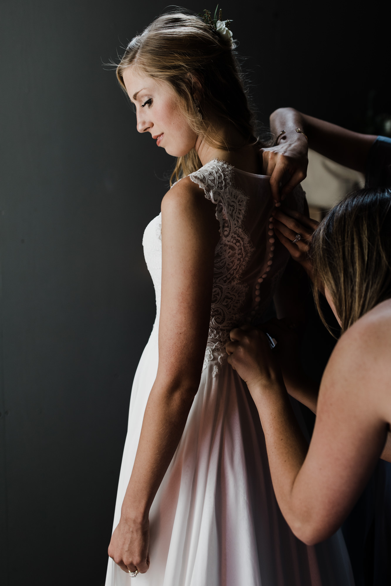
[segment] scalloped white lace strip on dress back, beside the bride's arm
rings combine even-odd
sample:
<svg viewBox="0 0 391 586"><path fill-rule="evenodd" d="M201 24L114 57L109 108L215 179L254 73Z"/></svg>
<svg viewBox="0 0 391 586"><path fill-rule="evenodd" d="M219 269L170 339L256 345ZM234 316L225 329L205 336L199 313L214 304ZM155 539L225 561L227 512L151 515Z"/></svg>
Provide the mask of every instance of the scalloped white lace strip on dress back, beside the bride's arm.
<svg viewBox="0 0 391 586"><path fill-rule="evenodd" d="M213 357L221 363L230 331L240 319L247 285L241 282L252 246L242 222L248 197L233 182L233 169L227 163L210 161L190 179L204 189L205 197L216 205L220 240L215 248L213 292L204 368Z"/></svg>

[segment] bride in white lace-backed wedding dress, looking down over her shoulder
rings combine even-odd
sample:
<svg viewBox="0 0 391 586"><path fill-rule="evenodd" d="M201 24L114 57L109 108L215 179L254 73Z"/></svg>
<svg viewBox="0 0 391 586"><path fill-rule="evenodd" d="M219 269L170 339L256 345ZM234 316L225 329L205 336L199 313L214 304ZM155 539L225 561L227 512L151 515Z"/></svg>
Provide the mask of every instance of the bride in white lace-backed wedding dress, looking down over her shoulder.
<svg viewBox="0 0 391 586"><path fill-rule="evenodd" d="M349 586L341 534L308 547L281 516L257 411L226 360L230 330L262 319L289 257L227 25L160 16L117 67L137 130L177 157L177 182L144 232L157 314L134 377L106 586L129 574L140 586ZM301 188L286 202L301 212Z"/></svg>

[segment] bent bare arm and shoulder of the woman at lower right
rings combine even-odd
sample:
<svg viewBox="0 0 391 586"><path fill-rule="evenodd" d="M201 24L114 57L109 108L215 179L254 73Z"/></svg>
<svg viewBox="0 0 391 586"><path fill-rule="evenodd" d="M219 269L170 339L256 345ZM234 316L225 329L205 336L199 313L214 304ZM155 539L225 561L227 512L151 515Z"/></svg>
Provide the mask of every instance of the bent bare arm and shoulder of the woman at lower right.
<svg viewBox="0 0 391 586"><path fill-rule="evenodd" d="M231 332L228 362L247 382L258 408L278 504L307 544L338 529L385 447L391 420L390 324L387 300L338 341L323 375L309 448L265 336L256 330Z"/></svg>

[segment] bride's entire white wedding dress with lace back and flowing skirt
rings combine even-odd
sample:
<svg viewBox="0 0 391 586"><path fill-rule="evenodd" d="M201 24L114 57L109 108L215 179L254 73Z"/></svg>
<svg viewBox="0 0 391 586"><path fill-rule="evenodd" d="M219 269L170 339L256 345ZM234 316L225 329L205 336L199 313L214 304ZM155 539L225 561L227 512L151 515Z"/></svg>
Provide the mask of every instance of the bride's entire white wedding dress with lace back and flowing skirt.
<svg viewBox="0 0 391 586"><path fill-rule="evenodd" d="M262 318L289 257L269 226L269 178L221 161L207 163L190 178L215 204L221 234L204 368L180 444L150 510L150 568L130 578L109 558L106 586L353 586L341 532L308 547L282 517L258 413L225 360L230 330ZM289 205L302 210L304 197L296 188ZM159 215L144 232L157 313L134 377L113 529L157 372L160 229Z"/></svg>

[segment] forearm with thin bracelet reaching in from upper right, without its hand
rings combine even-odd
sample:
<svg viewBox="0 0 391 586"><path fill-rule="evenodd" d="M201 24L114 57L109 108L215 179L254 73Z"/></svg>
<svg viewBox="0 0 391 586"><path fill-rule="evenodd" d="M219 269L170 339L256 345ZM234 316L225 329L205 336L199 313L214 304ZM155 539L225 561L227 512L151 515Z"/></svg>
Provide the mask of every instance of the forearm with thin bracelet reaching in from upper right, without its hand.
<svg viewBox="0 0 391 586"><path fill-rule="evenodd" d="M278 108L270 117L270 129L278 136L285 130L285 134L279 138L279 142L295 143L300 140L296 128L300 128L308 137L308 146L328 159L365 173L368 152L376 135L360 134L346 130L331 122L325 122L302 114L294 108Z"/></svg>

